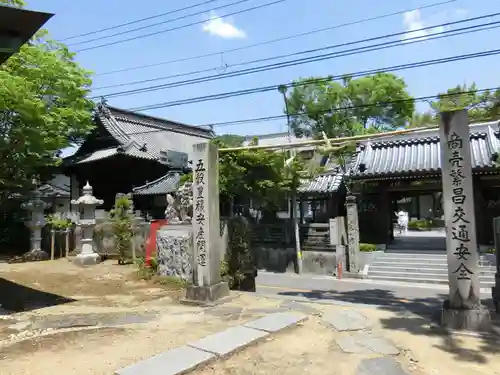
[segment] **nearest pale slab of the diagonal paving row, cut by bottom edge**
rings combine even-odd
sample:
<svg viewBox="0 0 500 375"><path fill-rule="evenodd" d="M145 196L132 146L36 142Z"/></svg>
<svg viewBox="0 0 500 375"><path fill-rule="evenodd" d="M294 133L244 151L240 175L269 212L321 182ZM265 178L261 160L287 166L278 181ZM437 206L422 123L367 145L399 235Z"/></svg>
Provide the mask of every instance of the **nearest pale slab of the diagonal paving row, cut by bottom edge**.
<svg viewBox="0 0 500 375"><path fill-rule="evenodd" d="M184 374L215 358L211 353L181 346L118 370L115 375Z"/></svg>

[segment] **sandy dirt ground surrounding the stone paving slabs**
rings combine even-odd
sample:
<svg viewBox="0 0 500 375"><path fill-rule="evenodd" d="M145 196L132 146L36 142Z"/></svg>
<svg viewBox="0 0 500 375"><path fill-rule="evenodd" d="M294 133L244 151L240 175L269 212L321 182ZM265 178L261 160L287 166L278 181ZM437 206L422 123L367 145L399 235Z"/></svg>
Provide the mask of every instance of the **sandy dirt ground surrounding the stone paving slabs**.
<svg viewBox="0 0 500 375"><path fill-rule="evenodd" d="M234 293L221 305L198 308L179 304L182 295L178 288L138 280L133 266L115 261L89 268L67 260L0 264L0 303L19 311L0 316L0 373L110 375L211 333L291 309L309 320L194 374L354 375L361 359L380 353L346 352L339 338L350 333L325 324L328 314L354 311L370 322L370 333L400 349L391 358L412 375L500 375L498 337L445 334L428 317L409 311Z"/></svg>

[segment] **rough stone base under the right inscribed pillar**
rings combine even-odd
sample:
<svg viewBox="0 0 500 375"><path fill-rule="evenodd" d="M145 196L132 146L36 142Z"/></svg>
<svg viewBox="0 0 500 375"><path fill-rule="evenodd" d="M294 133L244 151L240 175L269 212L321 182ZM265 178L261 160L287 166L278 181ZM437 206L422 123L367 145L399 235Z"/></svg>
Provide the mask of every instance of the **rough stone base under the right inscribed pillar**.
<svg viewBox="0 0 500 375"><path fill-rule="evenodd" d="M453 309L445 301L441 310L441 326L455 330L485 331L491 327L490 310L482 305L473 309Z"/></svg>

